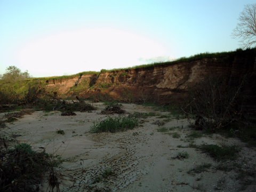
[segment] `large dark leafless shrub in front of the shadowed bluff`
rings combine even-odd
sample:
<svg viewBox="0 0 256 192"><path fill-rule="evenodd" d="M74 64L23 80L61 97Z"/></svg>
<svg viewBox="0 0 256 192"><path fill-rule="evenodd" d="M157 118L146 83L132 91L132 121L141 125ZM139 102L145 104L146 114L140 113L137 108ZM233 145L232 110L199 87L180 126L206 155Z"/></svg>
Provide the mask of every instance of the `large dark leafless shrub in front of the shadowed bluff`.
<svg viewBox="0 0 256 192"><path fill-rule="evenodd" d="M223 76L209 75L189 89L188 104L183 111L195 114L196 129L217 131L242 117L241 93L246 76L230 83Z"/></svg>

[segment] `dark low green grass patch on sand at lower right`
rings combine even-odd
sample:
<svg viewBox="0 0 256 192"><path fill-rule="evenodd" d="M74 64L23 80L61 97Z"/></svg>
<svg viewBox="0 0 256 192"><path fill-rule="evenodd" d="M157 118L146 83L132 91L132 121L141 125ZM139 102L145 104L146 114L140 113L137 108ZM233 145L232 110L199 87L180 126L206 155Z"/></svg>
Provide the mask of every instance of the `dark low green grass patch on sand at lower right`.
<svg viewBox="0 0 256 192"><path fill-rule="evenodd" d="M212 158L217 161L226 161L228 159L235 159L239 152L237 146L218 146L218 145L206 145L199 146L204 153L209 154Z"/></svg>

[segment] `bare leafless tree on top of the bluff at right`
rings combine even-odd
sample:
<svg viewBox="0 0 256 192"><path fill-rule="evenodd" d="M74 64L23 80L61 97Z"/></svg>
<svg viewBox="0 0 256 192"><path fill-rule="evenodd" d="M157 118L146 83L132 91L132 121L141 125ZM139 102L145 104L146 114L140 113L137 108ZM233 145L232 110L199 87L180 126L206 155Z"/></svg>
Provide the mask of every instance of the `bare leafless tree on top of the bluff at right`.
<svg viewBox="0 0 256 192"><path fill-rule="evenodd" d="M233 36L241 38L244 48L256 44L256 4L245 5L238 20Z"/></svg>

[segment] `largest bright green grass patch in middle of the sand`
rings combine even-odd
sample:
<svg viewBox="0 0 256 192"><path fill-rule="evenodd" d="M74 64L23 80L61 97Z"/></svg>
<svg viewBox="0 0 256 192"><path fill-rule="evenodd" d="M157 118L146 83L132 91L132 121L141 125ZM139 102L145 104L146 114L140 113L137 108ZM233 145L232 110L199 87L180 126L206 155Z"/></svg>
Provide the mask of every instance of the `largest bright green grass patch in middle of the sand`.
<svg viewBox="0 0 256 192"><path fill-rule="evenodd" d="M115 133L118 131L125 131L129 129L133 129L138 125L137 118L118 116L118 117L108 117L107 119L93 124L90 129L92 133L100 133L100 132L111 132Z"/></svg>

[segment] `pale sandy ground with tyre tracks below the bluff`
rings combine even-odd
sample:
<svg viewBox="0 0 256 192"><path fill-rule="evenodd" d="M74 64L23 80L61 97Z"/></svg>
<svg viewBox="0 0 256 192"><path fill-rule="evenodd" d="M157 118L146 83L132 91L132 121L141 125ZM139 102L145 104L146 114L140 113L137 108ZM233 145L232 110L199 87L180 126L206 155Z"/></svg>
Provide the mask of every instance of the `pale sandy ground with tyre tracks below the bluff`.
<svg viewBox="0 0 256 192"><path fill-rule="evenodd" d="M58 111L35 111L7 124L11 131L20 135L17 138L20 142L29 143L34 150L44 147L47 153L66 159L60 168L61 173L66 175L60 186L61 191L256 191L255 178L247 174L238 177L234 170L220 171L216 169L220 162L196 148L186 146L191 142L196 145L237 145L241 147L241 152L236 162L254 169L254 172L255 148L247 148L237 139L218 134L189 138L188 134L193 130L188 126L188 120L174 117L162 125L175 127L167 132L157 131L161 126L154 122L164 119L154 116L142 119L144 121L133 130L89 133L94 122L107 118L107 115L100 114L105 108L103 103L93 105L97 110L91 113L76 112L76 116L61 116ZM123 104L123 109L127 113L155 111L161 115L169 114L134 104ZM63 130L65 134L58 134L57 130ZM174 132L179 133L180 138L173 138ZM183 151L187 151L188 158L175 158ZM212 166L202 173L188 173L203 163L211 163ZM104 177L106 170L114 174Z"/></svg>

